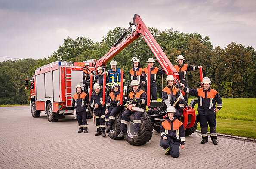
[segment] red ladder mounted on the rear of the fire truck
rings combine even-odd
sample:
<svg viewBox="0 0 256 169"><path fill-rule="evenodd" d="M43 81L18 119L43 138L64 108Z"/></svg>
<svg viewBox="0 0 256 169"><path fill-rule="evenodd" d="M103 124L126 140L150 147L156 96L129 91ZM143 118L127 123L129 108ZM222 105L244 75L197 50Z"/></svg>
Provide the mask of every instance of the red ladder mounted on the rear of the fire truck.
<svg viewBox="0 0 256 169"><path fill-rule="evenodd" d="M64 62L64 65L66 70L65 70L65 98L66 98L66 107L73 107L72 105L72 93L71 93L71 88L72 88L72 82L71 82L71 70L72 70L72 62Z"/></svg>

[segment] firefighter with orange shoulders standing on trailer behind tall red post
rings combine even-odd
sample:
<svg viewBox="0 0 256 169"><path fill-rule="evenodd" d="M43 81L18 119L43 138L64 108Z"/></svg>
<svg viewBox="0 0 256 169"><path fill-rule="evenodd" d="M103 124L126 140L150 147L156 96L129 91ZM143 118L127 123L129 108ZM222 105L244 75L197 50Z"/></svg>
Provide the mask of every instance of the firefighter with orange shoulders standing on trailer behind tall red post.
<svg viewBox="0 0 256 169"><path fill-rule="evenodd" d="M157 102L157 75L158 74L166 74L165 71L163 69L154 67L154 59L153 58L149 58L148 59L148 65L150 65L150 92L152 95L152 101ZM148 79L148 67L145 67L143 69L143 71L145 72L145 74L147 74L146 76L146 80L143 82L144 84L144 90L147 93L147 79Z"/></svg>

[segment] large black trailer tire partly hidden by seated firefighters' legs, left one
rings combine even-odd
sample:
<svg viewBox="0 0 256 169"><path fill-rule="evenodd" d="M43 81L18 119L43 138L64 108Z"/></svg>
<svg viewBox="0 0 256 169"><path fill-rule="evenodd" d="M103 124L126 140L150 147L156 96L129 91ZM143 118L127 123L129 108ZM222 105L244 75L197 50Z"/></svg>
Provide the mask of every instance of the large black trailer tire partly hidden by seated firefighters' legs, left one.
<svg viewBox="0 0 256 169"><path fill-rule="evenodd" d="M118 113L117 116L116 116L116 119L112 125L112 130L110 130L108 132L108 136L111 138L111 139L115 139L115 140L118 140L118 139L123 139L124 137L117 137L118 134L121 132L121 119L122 119L122 114L123 112L121 113Z"/></svg>

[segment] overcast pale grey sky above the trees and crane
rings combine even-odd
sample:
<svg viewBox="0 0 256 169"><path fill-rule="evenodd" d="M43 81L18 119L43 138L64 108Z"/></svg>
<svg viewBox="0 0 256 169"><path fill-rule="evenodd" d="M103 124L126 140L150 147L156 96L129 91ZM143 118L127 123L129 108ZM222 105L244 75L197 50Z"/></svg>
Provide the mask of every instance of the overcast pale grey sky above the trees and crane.
<svg viewBox="0 0 256 169"><path fill-rule="evenodd" d="M256 0L0 0L0 62L44 58L64 39L101 41L139 14L148 27L256 48Z"/></svg>

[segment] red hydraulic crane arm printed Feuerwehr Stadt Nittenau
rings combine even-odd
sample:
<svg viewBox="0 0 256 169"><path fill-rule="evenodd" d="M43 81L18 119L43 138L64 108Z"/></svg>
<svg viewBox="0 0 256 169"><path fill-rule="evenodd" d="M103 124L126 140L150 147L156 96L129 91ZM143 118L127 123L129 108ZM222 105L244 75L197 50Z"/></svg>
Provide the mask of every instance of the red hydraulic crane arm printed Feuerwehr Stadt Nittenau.
<svg viewBox="0 0 256 169"><path fill-rule="evenodd" d="M145 39L146 43L150 47L151 51L154 53L154 56L157 58L158 62L162 66L163 70L166 72L167 75L172 74L178 81L179 81L179 75L176 71L176 69L171 64L170 60L167 58L157 41L154 39L142 19L138 14L135 14L133 17L133 22L129 23L130 27L126 30L126 32L123 33L123 35L118 39L116 44L111 47L109 52L105 54L101 59L97 60L95 63L95 68L99 66L105 66L108 61L110 61L114 56L116 56L120 51L122 51L126 46L128 46L130 43L132 43L134 40L138 39L139 36L142 35L142 37ZM136 31L132 32L131 26L136 26ZM131 34L124 39L122 42L120 42L123 37L126 35L128 30L131 30Z"/></svg>

